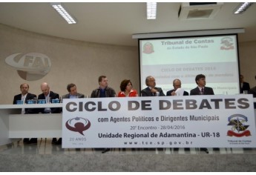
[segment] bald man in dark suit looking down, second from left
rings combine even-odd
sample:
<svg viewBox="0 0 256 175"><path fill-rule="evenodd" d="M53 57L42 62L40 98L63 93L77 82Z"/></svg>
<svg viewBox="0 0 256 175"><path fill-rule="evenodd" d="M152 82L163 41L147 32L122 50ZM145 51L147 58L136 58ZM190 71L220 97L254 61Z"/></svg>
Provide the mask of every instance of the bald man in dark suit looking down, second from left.
<svg viewBox="0 0 256 175"><path fill-rule="evenodd" d="M43 82L41 85L42 93L39 94L38 99L45 99L46 102L50 102L51 99L59 99L58 93L53 93L53 91L50 91L50 87L47 84L47 82ZM39 108L40 113L61 113L60 108ZM62 144L62 138L59 138L57 141L56 138L53 138L52 144Z"/></svg>

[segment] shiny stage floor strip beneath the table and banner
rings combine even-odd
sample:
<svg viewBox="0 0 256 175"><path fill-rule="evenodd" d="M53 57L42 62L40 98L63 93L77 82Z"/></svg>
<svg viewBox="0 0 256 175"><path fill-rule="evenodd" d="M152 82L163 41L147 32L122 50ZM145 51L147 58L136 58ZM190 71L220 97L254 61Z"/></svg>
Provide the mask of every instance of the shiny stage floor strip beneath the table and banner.
<svg viewBox="0 0 256 175"><path fill-rule="evenodd" d="M207 148L209 154L256 153L256 148ZM38 139L37 144L22 140L0 146L0 154L206 154L200 148L62 148L51 144L51 139Z"/></svg>

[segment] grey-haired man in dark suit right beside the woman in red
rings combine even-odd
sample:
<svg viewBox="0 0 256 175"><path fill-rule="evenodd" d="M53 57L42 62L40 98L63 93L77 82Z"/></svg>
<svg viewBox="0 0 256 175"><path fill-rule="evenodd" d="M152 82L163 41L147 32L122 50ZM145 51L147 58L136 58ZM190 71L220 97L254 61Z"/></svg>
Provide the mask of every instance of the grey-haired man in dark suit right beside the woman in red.
<svg viewBox="0 0 256 175"><path fill-rule="evenodd" d="M142 96L165 96L161 87L156 87L156 80L153 76L147 76L145 79L145 89L141 90Z"/></svg>

